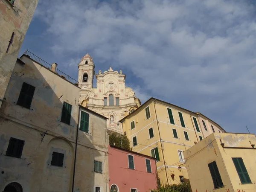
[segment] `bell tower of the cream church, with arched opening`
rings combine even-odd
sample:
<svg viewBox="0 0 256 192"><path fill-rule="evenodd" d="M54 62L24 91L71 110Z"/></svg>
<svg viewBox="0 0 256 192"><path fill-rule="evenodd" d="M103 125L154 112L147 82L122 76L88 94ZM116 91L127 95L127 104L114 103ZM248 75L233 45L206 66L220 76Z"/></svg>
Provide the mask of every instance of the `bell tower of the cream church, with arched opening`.
<svg viewBox="0 0 256 192"><path fill-rule="evenodd" d="M93 77L95 75L93 58L87 53L78 64L78 83L81 89L93 88Z"/></svg>

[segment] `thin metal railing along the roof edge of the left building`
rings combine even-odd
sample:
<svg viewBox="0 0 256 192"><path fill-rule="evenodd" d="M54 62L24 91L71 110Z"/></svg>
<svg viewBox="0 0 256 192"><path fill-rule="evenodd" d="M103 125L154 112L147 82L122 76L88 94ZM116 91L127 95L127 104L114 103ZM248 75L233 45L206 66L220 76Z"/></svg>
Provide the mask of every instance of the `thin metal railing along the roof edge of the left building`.
<svg viewBox="0 0 256 192"><path fill-rule="evenodd" d="M39 64L43 65L44 67L48 68L49 70L51 70L52 65L47 63L46 61L44 61L43 59L41 59L40 57L36 56L35 54L33 54L32 52L30 52L29 50L26 50L24 52L24 55L29 56L30 58L32 58L34 61L38 62ZM62 78L66 79L67 81L70 81L73 84L77 84L78 81L76 81L76 79L73 79L72 77L70 77L69 75L67 75L66 73L62 72L61 70L56 70L56 73L58 73L58 75L60 75Z"/></svg>

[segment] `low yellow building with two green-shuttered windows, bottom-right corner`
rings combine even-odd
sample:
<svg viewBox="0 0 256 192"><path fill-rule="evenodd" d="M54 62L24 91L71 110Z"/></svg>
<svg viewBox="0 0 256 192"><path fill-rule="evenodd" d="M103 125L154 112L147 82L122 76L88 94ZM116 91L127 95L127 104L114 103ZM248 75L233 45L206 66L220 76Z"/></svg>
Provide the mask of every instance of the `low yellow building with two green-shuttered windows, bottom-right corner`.
<svg viewBox="0 0 256 192"><path fill-rule="evenodd" d="M255 192L254 134L213 133L184 152L193 192Z"/></svg>

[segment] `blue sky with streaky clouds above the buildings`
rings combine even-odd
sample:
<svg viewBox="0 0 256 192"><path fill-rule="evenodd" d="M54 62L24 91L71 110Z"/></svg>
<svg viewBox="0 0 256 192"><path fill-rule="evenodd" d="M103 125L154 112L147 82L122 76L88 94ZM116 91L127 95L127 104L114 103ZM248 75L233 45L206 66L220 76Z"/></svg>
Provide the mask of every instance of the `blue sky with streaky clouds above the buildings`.
<svg viewBox="0 0 256 192"><path fill-rule="evenodd" d="M28 49L77 79L89 53L126 86L200 112L227 132L256 133L253 0L39 0Z"/></svg>

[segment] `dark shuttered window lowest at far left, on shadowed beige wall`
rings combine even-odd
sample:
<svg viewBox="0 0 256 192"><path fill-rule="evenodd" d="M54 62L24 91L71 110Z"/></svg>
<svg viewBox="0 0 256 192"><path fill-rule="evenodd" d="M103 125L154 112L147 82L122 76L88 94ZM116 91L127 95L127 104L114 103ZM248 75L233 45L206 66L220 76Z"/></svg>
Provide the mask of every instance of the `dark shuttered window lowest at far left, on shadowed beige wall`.
<svg viewBox="0 0 256 192"><path fill-rule="evenodd" d="M24 143L25 141L23 140L19 140L11 137L9 140L9 145L6 151L6 155L20 158L23 151Z"/></svg>

